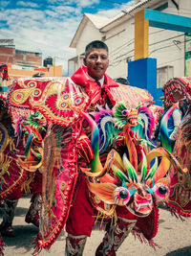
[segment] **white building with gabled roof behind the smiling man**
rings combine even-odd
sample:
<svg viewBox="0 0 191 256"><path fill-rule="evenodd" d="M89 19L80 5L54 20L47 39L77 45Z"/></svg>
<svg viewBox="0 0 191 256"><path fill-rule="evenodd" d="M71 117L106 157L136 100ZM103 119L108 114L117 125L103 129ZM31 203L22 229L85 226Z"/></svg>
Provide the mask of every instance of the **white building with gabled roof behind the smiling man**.
<svg viewBox="0 0 191 256"><path fill-rule="evenodd" d="M141 10L191 16L190 0L141 0L114 18L85 13L70 47L76 56L69 59L69 75L82 64L85 46L99 39L110 49L108 75L128 78L128 63L135 60L135 14ZM148 58L157 59L157 88L173 77L191 76L191 36L164 28L149 27ZM152 91L150 91L152 93Z"/></svg>

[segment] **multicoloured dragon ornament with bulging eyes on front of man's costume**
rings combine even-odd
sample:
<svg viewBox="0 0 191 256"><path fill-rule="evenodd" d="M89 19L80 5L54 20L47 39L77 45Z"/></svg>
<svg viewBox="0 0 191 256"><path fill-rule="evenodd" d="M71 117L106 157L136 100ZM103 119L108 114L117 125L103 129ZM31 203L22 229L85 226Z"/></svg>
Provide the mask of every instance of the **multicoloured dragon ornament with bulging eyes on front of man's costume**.
<svg viewBox="0 0 191 256"><path fill-rule="evenodd" d="M116 105L114 113L115 126L122 128L121 138L125 145L120 150L112 149L107 159L102 162L99 157L99 129L88 114L84 114L92 128L91 146L95 159L91 168L81 168L87 175L87 184L96 209L96 227L104 228L108 222L120 219L118 213L125 213L126 225L141 241L152 246L153 238L158 232L158 202L169 197L169 179L167 172L175 166L179 174L179 161L164 148L145 151L132 127L138 126L138 109L127 109L125 105ZM159 161L160 158L160 161ZM124 219L124 218L123 218Z"/></svg>

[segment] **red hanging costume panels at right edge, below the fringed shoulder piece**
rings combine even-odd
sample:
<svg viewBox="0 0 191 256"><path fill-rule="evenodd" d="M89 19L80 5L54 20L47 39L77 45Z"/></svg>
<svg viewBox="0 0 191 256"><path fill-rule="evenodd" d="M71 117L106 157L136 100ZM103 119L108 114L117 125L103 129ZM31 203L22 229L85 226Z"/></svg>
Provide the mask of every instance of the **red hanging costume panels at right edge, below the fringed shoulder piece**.
<svg viewBox="0 0 191 256"><path fill-rule="evenodd" d="M177 140L173 154L180 161L187 173L179 174L175 168L170 174L170 197L168 204L185 217L191 216L191 105L183 117L177 133Z"/></svg>

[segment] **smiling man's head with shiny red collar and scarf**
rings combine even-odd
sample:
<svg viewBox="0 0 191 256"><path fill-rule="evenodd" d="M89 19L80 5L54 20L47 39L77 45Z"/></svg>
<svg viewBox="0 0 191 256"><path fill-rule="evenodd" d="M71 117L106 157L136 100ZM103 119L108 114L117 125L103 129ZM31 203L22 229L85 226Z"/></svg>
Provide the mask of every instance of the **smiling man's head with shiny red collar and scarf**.
<svg viewBox="0 0 191 256"><path fill-rule="evenodd" d="M118 84L105 74L109 66L108 55L108 47L104 42L92 41L86 46L84 65L72 76L72 80L90 97L93 107L97 104L115 105L110 87L118 87Z"/></svg>

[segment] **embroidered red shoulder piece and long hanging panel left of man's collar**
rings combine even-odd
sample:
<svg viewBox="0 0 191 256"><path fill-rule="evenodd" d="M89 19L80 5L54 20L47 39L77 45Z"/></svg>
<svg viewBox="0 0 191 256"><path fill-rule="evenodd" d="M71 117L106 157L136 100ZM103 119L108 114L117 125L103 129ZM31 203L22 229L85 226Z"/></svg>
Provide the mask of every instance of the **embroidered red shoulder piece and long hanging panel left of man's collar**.
<svg viewBox="0 0 191 256"><path fill-rule="evenodd" d="M71 79L22 78L13 81L7 103L12 123L18 124L16 126L16 128L18 127L17 130L19 131L19 125L23 125L22 127L27 128L28 131L27 138L32 133L32 135L35 135L33 141L36 142L38 139L37 146L34 145L33 148L32 146L31 148L26 147L29 150L32 149L32 156L34 154L35 159L41 152L38 170L43 174L43 201L39 213L40 223L39 234L36 239L36 251L40 248L50 248L67 221L73 200L77 177L75 145L77 138L80 136L82 112L85 112L89 105L89 97ZM34 116L32 119L31 116L37 112L39 117L46 121L46 130L43 132L42 138L40 138L39 132L33 134L38 128L34 121L37 122L39 117ZM21 123L20 119L24 123ZM32 124L32 128L29 127L28 123ZM3 139L5 138L8 141L8 131L3 126L0 128L0 134L2 133L4 136ZM17 133L20 134L20 132ZM23 142L22 137L19 142L20 144ZM1 144L4 152L8 148L10 153L11 147L8 147L4 140ZM26 159L28 151L26 151L27 156L25 157L25 148L23 145L21 147L20 144L18 146L22 151L18 151L18 154L24 156L22 159ZM26 145L28 146L28 141ZM11 166L11 160L7 156L3 160L4 166ZM23 164L23 161L20 162ZM12 163L14 162L12 161ZM15 166L14 163L12 170L15 170ZM17 173L20 174L18 171ZM4 174L6 176L10 175L6 169ZM17 179L23 180L20 176ZM5 181L7 180L5 179Z"/></svg>

